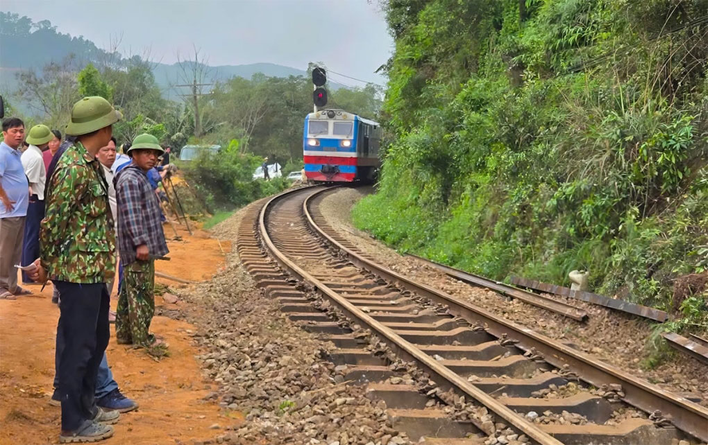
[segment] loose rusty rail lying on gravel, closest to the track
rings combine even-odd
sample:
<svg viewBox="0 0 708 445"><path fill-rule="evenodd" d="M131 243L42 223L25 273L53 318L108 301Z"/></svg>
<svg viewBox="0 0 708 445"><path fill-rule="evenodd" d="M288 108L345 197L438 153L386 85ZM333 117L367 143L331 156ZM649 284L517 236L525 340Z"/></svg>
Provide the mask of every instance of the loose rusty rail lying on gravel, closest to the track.
<svg viewBox="0 0 708 445"><path fill-rule="evenodd" d="M583 311L580 308L576 308L575 306L572 306L570 304L563 303L562 301L555 301L545 296L537 295L532 292L525 291L523 289L518 289L516 287L509 286L508 284L496 282L491 279L481 277L480 275L464 272L464 270L455 269L454 267L446 266L440 264L439 262L430 261L426 258L419 257L418 255L412 255L410 253L407 255L413 258L417 258L418 260L425 262L431 267L435 267L435 269L445 272L445 274L450 275L450 277L459 279L469 284L474 284L475 286L486 287L487 289L496 291L499 294L502 294L503 296L508 296L510 298L515 298L520 301L524 301L527 304L532 304L533 306L537 306L547 311L558 313L561 316L572 318L573 320L585 321L588 318L588 313L586 311Z"/></svg>

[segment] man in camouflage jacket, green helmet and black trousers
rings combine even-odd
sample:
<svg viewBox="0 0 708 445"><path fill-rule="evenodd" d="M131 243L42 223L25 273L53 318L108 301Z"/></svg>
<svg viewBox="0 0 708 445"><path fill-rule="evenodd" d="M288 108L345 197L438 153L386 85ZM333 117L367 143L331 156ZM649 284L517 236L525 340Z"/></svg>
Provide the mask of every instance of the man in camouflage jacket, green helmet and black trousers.
<svg viewBox="0 0 708 445"><path fill-rule="evenodd" d="M108 184L96 154L110 141L120 117L98 96L74 104L67 135L76 141L58 158L45 193L41 256L30 278L52 279L61 296L57 335L63 335L65 345L59 362L60 443L107 439L113 436L109 424L120 417L118 411L98 408L95 399L98 368L110 337L106 283L115 274Z"/></svg>

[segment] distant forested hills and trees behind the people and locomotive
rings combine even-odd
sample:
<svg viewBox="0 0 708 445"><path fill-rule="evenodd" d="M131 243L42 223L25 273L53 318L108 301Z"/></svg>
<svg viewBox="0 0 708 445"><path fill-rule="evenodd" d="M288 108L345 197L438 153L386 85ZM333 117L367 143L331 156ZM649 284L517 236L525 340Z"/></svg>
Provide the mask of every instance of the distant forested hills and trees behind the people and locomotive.
<svg viewBox="0 0 708 445"><path fill-rule="evenodd" d="M14 67L17 60L26 64L25 69L0 69L3 78L13 76L13 82L3 79L2 84L14 86L13 91L0 88L0 94L6 98L6 115L23 118L27 127L44 123L63 133L76 100L102 96L123 114L113 129L119 144L148 132L176 154L185 144L222 146L219 156L205 154L184 166L210 210L242 205L285 187L285 180L253 183L253 171L265 157L287 166L285 173L302 168L302 125L312 112L309 76L315 64L300 76L256 73L249 79L223 79L217 68L205 64L206 55L195 49L178 64L178 79L212 85L200 87L197 100L191 94L171 100L156 81L154 70L159 64L137 55L122 57L120 48L99 50L83 37L59 33L49 21L34 23L28 17L0 12L0 40L2 67ZM48 56L55 58L40 64ZM40 65L33 68L33 64ZM379 111L377 86L336 88L328 83L328 89L331 108L366 117Z"/></svg>

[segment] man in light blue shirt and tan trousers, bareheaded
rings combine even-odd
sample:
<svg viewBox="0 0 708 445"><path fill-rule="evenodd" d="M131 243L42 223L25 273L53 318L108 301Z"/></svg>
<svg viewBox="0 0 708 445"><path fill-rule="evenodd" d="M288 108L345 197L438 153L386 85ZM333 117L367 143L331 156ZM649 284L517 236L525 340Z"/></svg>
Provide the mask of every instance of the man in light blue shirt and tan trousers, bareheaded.
<svg viewBox="0 0 708 445"><path fill-rule="evenodd" d="M2 122L0 142L0 299L31 294L17 285L15 265L22 260L22 239L30 201L21 161L25 123L17 117Z"/></svg>

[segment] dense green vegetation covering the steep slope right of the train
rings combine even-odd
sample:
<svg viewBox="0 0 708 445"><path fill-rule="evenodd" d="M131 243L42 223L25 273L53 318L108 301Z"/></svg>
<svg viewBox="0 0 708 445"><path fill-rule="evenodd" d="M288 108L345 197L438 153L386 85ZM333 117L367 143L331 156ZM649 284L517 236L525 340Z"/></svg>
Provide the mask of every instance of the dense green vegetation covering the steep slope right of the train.
<svg viewBox="0 0 708 445"><path fill-rule="evenodd" d="M674 279L708 267L708 1L381 3L390 144L355 224L495 279L586 269L670 310Z"/></svg>

